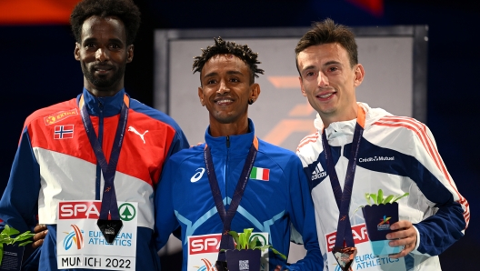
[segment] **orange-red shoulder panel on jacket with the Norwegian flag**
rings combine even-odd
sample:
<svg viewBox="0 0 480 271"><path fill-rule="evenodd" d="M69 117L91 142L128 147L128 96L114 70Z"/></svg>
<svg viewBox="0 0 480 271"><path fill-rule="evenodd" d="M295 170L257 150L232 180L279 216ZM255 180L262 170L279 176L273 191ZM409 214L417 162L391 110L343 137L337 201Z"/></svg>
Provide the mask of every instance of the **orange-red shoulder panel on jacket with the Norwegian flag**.
<svg viewBox="0 0 480 271"><path fill-rule="evenodd" d="M66 117L79 114L76 98L73 98L36 110L26 117L24 127L36 121L44 122L45 125L51 125Z"/></svg>

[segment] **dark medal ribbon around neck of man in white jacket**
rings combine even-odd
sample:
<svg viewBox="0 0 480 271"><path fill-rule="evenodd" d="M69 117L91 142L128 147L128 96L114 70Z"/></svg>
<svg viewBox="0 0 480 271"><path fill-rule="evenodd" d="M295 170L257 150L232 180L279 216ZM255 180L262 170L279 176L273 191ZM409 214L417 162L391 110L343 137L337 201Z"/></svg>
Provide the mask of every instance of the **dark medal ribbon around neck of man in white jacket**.
<svg viewBox="0 0 480 271"><path fill-rule="evenodd" d="M358 115L355 125L354 139L352 141L352 149L350 151L350 159L348 159L348 166L346 168L344 191L342 192L342 186L338 181L336 175L334 159L332 156L332 150L328 141L326 140L326 132L322 133L322 145L325 149L325 160L328 175L330 176L330 183L335 195L336 206L340 211L338 216L338 224L336 227L336 239L335 246L343 247L344 240L345 245L348 247L355 247L354 236L352 234L352 226L350 225L350 217L348 216L348 209L350 207L350 201L352 199L352 189L354 187L356 158L358 156L358 148L360 141L364 133L363 125L365 124L365 112L362 107L358 107Z"/></svg>

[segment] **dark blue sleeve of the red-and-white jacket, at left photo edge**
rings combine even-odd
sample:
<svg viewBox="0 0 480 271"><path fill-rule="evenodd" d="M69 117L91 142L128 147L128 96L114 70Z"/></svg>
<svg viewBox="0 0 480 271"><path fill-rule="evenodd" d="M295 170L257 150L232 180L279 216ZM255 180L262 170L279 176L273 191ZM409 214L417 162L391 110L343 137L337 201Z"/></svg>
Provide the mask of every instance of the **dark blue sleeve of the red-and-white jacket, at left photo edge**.
<svg viewBox="0 0 480 271"><path fill-rule="evenodd" d="M4 220L1 227L13 226L21 233L33 231L39 191L40 166L36 162L25 126L8 184L0 200L0 218Z"/></svg>

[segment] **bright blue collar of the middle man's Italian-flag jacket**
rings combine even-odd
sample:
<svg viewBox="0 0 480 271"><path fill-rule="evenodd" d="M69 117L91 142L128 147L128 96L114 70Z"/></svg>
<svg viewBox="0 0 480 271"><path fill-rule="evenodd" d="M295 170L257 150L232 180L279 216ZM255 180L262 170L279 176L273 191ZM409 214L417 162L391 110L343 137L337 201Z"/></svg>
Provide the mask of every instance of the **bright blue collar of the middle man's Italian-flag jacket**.
<svg viewBox="0 0 480 271"><path fill-rule="evenodd" d="M205 131L205 143L210 147L212 156L246 156L255 138L255 126L248 119L248 133L244 135L228 135L230 146L227 146L227 136L213 137L210 135L210 125Z"/></svg>

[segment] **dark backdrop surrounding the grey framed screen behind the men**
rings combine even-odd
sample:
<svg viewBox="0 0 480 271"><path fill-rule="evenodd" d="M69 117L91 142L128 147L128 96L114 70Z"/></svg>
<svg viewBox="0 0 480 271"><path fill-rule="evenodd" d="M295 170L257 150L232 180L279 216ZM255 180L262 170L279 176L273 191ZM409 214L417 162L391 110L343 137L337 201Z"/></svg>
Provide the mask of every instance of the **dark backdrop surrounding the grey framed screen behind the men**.
<svg viewBox="0 0 480 271"><path fill-rule="evenodd" d="M476 123L480 8L475 2L136 0L143 23L134 62L127 65L125 89L153 105L155 29L308 26L326 17L350 26L429 25L426 124L473 214L465 237L440 258L444 270L475 270L475 247L480 241L475 231L480 206L476 197L480 192ZM369 9L365 3L380 3L380 8ZM5 189L25 117L81 92L83 75L74 46L69 25L0 25L0 118L5 120L0 133L0 191Z"/></svg>

